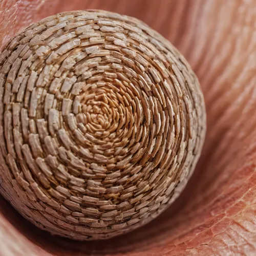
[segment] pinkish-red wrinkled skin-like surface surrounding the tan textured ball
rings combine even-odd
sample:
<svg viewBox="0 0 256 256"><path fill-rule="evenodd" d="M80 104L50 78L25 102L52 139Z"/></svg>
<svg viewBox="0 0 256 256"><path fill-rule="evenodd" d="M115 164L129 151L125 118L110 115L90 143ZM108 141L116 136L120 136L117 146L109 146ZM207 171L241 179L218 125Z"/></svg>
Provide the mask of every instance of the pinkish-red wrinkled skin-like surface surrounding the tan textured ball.
<svg viewBox="0 0 256 256"><path fill-rule="evenodd" d="M0 47L31 23L74 9L135 16L180 50L198 75L205 97L203 153L169 209L150 224L109 241L53 238L0 197L0 256L255 255L254 0L4 0Z"/></svg>

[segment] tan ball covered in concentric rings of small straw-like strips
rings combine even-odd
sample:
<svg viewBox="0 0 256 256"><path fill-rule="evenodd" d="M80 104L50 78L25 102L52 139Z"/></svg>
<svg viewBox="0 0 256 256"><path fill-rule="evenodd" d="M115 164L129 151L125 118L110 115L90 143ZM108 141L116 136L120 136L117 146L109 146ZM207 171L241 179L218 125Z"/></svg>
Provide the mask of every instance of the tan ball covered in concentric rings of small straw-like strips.
<svg viewBox="0 0 256 256"><path fill-rule="evenodd" d="M156 218L205 136L198 79L128 16L47 17L0 54L0 191L41 229L106 239Z"/></svg>

